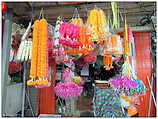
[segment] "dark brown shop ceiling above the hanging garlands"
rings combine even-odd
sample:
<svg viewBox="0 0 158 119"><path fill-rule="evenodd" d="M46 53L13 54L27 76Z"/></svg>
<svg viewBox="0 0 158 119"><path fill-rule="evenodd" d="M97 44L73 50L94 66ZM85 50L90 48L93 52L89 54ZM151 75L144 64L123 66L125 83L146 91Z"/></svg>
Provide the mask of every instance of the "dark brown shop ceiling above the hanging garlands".
<svg viewBox="0 0 158 119"><path fill-rule="evenodd" d="M117 3L123 18L126 15L127 23L130 26L140 25L140 20L145 16L156 16L156 2ZM75 8L78 8L80 17L86 20L88 11L93 9L95 5L112 16L110 2L8 2L8 6L13 11L15 22L23 23L31 20L31 18L37 19L43 8L45 18L53 25L59 15L63 16L65 21L70 20ZM123 24L123 21L121 21L121 25Z"/></svg>

